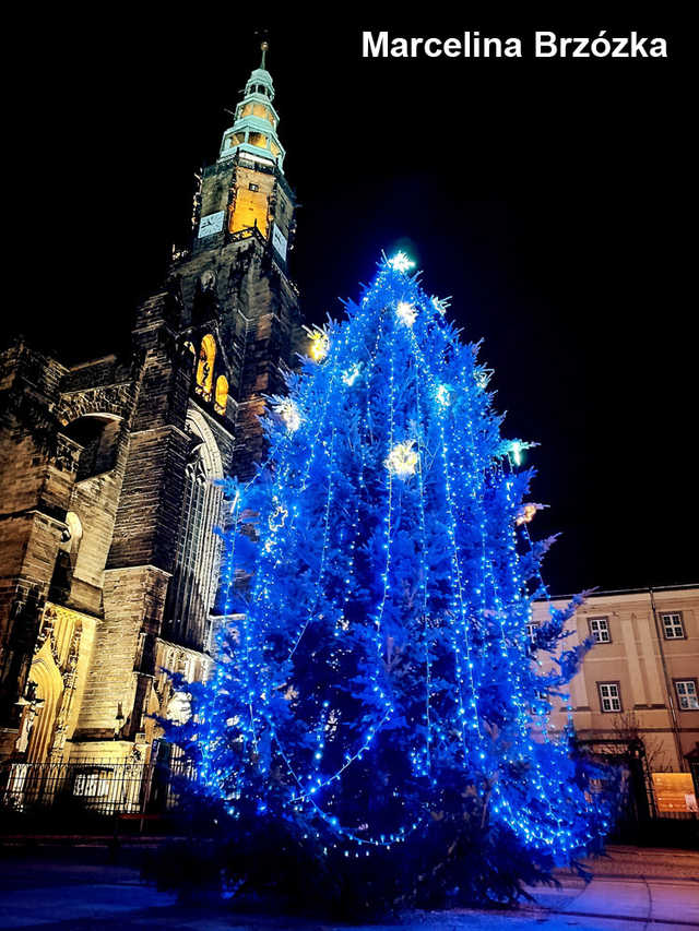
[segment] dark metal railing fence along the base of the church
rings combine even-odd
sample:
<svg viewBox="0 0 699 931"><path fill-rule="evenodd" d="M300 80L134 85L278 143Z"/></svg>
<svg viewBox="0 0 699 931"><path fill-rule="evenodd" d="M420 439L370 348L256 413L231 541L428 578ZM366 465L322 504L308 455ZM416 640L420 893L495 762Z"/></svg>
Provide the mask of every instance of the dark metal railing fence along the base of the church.
<svg viewBox="0 0 699 931"><path fill-rule="evenodd" d="M185 760L138 763L104 759L75 763L3 763L0 809L32 813L71 809L94 815L158 814L177 808Z"/></svg>

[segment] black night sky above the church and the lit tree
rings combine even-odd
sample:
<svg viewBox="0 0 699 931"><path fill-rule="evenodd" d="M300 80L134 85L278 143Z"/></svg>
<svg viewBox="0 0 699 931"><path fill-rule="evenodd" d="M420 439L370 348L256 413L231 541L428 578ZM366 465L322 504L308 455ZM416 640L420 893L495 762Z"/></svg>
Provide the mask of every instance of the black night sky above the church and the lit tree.
<svg viewBox="0 0 699 931"><path fill-rule="evenodd" d="M16 238L28 271L4 331L69 361L128 344L138 300L187 239L193 171L215 159L224 108L258 64L242 7L157 22L117 10L61 12L22 38L23 82L37 83L17 97L9 187L31 227ZM671 57L363 60L362 29L391 20L334 19L264 24L307 318L340 314L380 250L407 246L426 289L453 296L465 336L484 338L506 433L541 443L533 498L550 510L534 529L561 533L552 588L698 582L686 31L463 8L390 31L478 28L530 49L534 28L637 28L666 36Z"/></svg>

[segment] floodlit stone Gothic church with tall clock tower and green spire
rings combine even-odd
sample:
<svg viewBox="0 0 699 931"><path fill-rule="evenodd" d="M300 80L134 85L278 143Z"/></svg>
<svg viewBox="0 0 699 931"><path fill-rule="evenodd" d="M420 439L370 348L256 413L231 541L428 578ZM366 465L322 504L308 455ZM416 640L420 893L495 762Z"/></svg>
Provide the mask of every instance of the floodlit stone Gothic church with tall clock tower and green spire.
<svg viewBox="0 0 699 931"><path fill-rule="evenodd" d="M130 357L0 357L2 759L145 761L151 715L177 714L163 668L211 667L215 480L263 457L263 396L304 342L265 49Z"/></svg>

